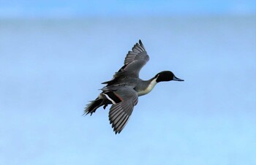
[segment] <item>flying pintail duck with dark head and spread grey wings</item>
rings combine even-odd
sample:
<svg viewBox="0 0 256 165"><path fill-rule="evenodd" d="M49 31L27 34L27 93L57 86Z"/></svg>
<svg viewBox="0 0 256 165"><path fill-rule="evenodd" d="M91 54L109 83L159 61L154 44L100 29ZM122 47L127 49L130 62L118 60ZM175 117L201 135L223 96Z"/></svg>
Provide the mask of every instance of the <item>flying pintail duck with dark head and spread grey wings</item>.
<svg viewBox="0 0 256 165"><path fill-rule="evenodd" d="M102 88L102 93L99 94L97 99L87 104L84 113L92 115L98 107L103 106L105 109L108 104L112 104L108 118L113 131L119 134L132 115L133 107L138 103L138 96L149 93L158 82L184 81L170 71L159 72L150 80L141 80L139 77L140 69L148 60L149 56L146 49L139 40L139 43L132 47L132 51L128 52L124 59L124 66L113 75L113 79L102 82L102 84L106 84Z"/></svg>

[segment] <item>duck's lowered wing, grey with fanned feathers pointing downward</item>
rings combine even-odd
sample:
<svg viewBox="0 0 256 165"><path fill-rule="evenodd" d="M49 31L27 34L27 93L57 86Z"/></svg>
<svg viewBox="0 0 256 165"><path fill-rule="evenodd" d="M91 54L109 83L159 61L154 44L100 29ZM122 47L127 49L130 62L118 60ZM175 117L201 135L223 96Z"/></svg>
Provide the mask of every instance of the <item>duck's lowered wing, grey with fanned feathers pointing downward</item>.
<svg viewBox="0 0 256 165"><path fill-rule="evenodd" d="M114 93L121 102L112 105L108 117L113 130L119 134L132 115L133 107L138 103L138 93L130 87L122 87Z"/></svg>

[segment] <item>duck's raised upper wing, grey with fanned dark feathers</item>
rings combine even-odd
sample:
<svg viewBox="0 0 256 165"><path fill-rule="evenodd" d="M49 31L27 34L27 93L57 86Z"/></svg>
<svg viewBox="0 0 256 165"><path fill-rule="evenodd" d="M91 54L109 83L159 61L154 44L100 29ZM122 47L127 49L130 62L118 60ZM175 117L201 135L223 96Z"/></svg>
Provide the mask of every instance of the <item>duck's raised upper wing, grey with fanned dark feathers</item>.
<svg viewBox="0 0 256 165"><path fill-rule="evenodd" d="M124 66L119 70L121 72L127 72L135 77L139 77L140 69L149 61L149 56L143 43L139 40L132 47L132 51L129 51L124 59Z"/></svg>

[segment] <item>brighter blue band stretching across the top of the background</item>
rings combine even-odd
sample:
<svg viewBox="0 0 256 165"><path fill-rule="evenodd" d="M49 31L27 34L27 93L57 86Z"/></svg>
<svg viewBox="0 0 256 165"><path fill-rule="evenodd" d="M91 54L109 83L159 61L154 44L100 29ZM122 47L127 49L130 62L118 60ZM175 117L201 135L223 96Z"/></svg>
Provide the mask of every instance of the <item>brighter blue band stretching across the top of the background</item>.
<svg viewBox="0 0 256 165"><path fill-rule="evenodd" d="M255 14L256 1L0 1L1 17Z"/></svg>

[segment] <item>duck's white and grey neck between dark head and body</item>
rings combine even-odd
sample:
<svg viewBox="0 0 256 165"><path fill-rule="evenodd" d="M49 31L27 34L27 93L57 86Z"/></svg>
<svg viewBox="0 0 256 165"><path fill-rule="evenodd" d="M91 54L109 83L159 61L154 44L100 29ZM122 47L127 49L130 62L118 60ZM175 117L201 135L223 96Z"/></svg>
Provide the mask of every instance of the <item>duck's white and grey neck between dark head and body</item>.
<svg viewBox="0 0 256 165"><path fill-rule="evenodd" d="M136 87L135 90L138 92L138 96L143 96L151 92L155 85L157 85L157 77L153 77L150 80L141 82L141 84Z"/></svg>

